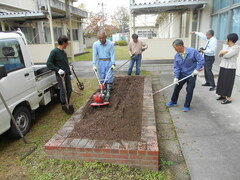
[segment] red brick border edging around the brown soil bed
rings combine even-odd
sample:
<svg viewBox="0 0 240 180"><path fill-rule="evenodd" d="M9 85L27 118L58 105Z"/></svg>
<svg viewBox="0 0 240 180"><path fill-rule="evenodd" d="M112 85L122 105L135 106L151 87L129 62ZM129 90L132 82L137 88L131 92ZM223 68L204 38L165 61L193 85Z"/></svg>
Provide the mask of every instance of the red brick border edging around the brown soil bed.
<svg viewBox="0 0 240 180"><path fill-rule="evenodd" d="M86 103L45 144L48 157L100 161L158 170L158 143L150 77L144 79L141 141L110 141L68 138L74 124L81 121ZM80 118L79 118L80 117Z"/></svg>

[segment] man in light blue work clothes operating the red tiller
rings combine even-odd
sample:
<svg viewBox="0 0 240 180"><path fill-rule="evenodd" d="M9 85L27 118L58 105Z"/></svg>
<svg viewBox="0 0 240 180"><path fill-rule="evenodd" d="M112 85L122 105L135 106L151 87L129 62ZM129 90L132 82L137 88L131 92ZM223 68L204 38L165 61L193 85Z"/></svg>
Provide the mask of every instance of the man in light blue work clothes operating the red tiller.
<svg viewBox="0 0 240 180"><path fill-rule="evenodd" d="M101 83L107 78L106 83L112 88L113 70L115 69L114 44L106 39L106 32L98 33L98 41L93 44L93 70L99 73ZM108 70L111 71L107 76Z"/></svg>

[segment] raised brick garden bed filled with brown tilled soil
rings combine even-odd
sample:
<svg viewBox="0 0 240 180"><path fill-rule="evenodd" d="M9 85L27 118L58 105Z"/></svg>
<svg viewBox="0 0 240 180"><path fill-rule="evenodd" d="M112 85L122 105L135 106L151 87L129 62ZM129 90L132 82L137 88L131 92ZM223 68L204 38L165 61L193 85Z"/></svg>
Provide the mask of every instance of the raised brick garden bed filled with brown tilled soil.
<svg viewBox="0 0 240 180"><path fill-rule="evenodd" d="M81 107L45 145L48 157L158 170L150 78L116 77L108 107Z"/></svg>

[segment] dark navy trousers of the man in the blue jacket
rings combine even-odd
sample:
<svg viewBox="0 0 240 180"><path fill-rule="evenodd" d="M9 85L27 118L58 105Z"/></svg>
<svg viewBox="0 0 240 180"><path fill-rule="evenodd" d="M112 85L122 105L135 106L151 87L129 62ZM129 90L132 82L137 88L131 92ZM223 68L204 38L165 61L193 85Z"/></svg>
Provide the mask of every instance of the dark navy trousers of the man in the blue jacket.
<svg viewBox="0 0 240 180"><path fill-rule="evenodd" d="M182 78L184 78L184 77L181 76L179 78L179 80L182 79ZM194 77L191 76L191 77L179 82L179 85L176 84L175 88L174 88L174 91L173 91L171 101L174 104L177 104L179 93L180 93L180 91L181 91L181 89L182 89L182 87L185 83L187 83L187 87L186 87L187 95L186 95L184 107L190 107L190 104L191 104L191 101L192 101L192 96L193 96L193 90L195 88L195 83L196 83L196 76L194 76Z"/></svg>

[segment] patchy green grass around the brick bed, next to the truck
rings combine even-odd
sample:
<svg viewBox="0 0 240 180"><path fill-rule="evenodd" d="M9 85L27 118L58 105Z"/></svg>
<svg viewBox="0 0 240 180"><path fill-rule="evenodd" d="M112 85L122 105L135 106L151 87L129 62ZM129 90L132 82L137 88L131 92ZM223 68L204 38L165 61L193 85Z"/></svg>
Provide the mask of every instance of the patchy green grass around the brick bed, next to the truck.
<svg viewBox="0 0 240 180"><path fill-rule="evenodd" d="M143 74L148 74L144 72ZM85 90L82 95L73 93L71 103L75 110L82 106L97 89L95 79L80 79L84 82ZM73 85L76 82L73 82ZM80 92L75 85L75 91ZM81 180L81 179L172 179L170 170L154 172L127 166L112 165L99 162L79 162L75 160L48 159L44 153L44 145L70 118L55 100L41 107L36 112L36 120L26 138L36 141L38 148L27 158L20 158L33 145L24 145L21 140L12 140L0 136L0 179L29 179L29 180Z"/></svg>

